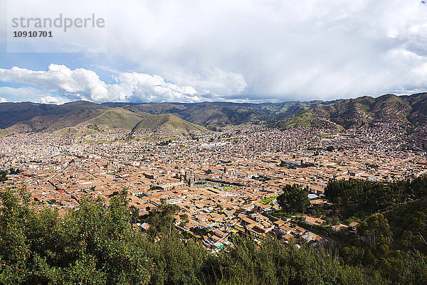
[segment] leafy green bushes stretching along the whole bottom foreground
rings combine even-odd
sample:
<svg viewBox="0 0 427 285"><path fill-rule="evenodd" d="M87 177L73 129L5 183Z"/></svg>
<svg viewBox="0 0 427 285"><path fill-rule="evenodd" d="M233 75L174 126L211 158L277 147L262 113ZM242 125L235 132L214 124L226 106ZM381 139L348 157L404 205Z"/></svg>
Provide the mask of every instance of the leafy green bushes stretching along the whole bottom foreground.
<svg viewBox="0 0 427 285"><path fill-rule="evenodd" d="M15 189L16 190L16 189ZM126 193L83 200L64 217L28 208L28 193L0 192L0 284L420 284L427 260L401 252L386 267L347 265L332 251L236 237L209 253L172 225L176 206L148 217L148 234L132 230ZM389 270L396 274L388 274Z"/></svg>

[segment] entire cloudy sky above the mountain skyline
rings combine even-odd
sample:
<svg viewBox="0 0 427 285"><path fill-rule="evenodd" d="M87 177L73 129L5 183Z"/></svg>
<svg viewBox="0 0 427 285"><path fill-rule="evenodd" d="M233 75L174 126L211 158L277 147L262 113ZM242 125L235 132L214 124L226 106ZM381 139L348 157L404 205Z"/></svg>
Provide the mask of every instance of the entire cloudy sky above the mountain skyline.
<svg viewBox="0 0 427 285"><path fill-rule="evenodd" d="M100 32L82 43L83 30L71 28L45 42L65 52L34 53L28 41L11 52L12 12L75 16L71 2L81 16L105 18L107 41ZM283 102L427 90L421 1L96 3L0 0L0 102Z"/></svg>

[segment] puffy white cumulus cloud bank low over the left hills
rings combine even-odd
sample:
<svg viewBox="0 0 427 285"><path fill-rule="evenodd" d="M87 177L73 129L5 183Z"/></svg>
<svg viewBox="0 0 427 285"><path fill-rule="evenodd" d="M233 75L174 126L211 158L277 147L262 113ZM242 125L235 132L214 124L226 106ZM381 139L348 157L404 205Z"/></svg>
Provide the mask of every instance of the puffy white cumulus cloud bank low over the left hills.
<svg viewBox="0 0 427 285"><path fill-rule="evenodd" d="M228 76L228 77L227 77ZM221 80L243 80L238 75L223 76ZM39 102L62 104L68 100L93 100L95 102L199 102L204 98L194 87L176 85L167 82L159 75L137 72L122 72L113 79L115 83L107 84L92 70L78 68L70 70L65 65L51 64L47 71L34 71L25 68L0 69L0 81L16 82L32 87L21 89L9 88L16 95L19 92L28 95L34 88L58 93L61 97L44 96ZM244 82L244 80L243 80ZM222 84L222 83L219 83ZM230 88L230 87L228 87ZM6 91L6 90L5 90ZM209 90L205 90L209 92ZM40 91L36 92L40 93Z"/></svg>

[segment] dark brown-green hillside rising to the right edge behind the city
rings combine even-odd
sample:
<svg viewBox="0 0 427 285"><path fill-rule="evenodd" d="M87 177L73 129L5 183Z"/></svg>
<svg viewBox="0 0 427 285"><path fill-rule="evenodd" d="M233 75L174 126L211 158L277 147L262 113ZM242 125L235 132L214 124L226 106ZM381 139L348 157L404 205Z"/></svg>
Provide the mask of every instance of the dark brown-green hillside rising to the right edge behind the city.
<svg viewBox="0 0 427 285"><path fill-rule="evenodd" d="M383 95L343 100L318 106L272 124L273 127L327 127L357 129L381 122L401 126L423 126L427 123L427 93L411 96Z"/></svg>

